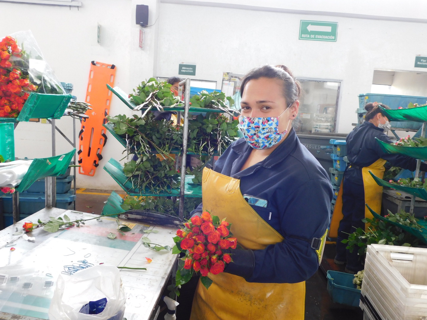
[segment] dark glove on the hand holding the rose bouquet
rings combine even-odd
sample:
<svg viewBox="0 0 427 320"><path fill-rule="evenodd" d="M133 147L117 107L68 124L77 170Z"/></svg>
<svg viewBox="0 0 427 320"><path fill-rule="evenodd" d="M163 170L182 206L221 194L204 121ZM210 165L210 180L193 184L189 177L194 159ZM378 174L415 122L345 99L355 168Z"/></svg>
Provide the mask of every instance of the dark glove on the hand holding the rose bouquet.
<svg viewBox="0 0 427 320"><path fill-rule="evenodd" d="M233 262L225 266L224 272L249 278L254 272L255 256L254 251L247 249L224 249L223 253L229 253Z"/></svg>

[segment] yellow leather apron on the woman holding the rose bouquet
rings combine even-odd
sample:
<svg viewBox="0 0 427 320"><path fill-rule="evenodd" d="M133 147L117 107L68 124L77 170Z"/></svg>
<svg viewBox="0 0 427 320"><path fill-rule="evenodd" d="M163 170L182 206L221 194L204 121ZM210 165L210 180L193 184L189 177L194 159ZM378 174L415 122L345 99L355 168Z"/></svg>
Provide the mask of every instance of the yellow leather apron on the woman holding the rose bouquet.
<svg viewBox="0 0 427 320"><path fill-rule="evenodd" d="M231 232L243 248L258 250L283 241L243 199L240 180L203 169L203 210L227 218ZM208 275L206 289L199 281L190 320L304 320L305 281L254 283L229 273Z"/></svg>

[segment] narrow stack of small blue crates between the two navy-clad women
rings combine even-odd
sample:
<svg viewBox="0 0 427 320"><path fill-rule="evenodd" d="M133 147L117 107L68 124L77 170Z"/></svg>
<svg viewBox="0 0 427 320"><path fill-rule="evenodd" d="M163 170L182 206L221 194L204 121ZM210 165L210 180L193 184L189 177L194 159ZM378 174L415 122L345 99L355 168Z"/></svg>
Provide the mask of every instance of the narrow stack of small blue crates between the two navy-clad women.
<svg viewBox="0 0 427 320"><path fill-rule="evenodd" d="M347 156L347 145L345 140L331 139L329 140L329 143L332 145L332 154L330 157L333 162L333 167L329 168L330 182L333 187L333 200L330 209L333 212L333 207L335 206L336 197L339 192L339 186L341 185L345 167L347 166L347 163L344 160L344 157Z"/></svg>

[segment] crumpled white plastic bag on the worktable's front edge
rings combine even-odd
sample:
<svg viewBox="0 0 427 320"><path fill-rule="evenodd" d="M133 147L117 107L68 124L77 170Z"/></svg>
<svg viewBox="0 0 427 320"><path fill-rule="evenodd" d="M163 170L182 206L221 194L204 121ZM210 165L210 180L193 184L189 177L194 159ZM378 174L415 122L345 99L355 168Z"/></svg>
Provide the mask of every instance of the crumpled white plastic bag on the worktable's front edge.
<svg viewBox="0 0 427 320"><path fill-rule="evenodd" d="M107 298L99 314L79 313L89 301ZM122 320L126 296L114 266L95 265L72 276L59 276L49 308L51 320Z"/></svg>

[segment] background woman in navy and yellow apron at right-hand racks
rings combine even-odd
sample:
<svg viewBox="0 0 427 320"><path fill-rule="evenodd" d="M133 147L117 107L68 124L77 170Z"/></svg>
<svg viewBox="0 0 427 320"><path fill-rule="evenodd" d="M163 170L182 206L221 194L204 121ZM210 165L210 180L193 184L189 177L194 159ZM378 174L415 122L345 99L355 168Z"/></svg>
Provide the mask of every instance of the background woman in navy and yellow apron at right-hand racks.
<svg viewBox="0 0 427 320"><path fill-rule="evenodd" d="M337 230L336 241L336 264L346 264L345 271L357 273L363 270L360 256L357 249L351 253L341 241L348 238L348 234L353 233L355 228L365 229L362 219L372 218L372 214L365 204L368 204L375 212L380 213L382 200L382 187L378 186L369 174L371 171L377 177L382 178L384 174L384 164L386 161L392 166L398 166L410 171L415 170L417 160L400 154L386 154L380 148L380 144L375 141L378 138L386 143L392 143L384 131L389 130L390 124L386 116L381 113L383 108L388 106L378 102L368 103L365 106L367 111L365 122L354 128L347 136L347 157L351 163L344 173L342 187L333 212L330 236ZM421 171L427 170L427 164L421 163ZM341 214L342 212L342 214ZM341 221L339 221L341 220Z"/></svg>

